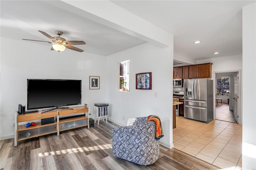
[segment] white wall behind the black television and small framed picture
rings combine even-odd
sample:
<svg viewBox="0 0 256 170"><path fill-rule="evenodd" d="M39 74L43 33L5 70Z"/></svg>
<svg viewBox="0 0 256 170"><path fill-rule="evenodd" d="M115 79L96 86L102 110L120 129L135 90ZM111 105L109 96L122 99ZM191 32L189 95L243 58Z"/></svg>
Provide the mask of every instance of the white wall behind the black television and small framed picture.
<svg viewBox="0 0 256 170"><path fill-rule="evenodd" d="M90 113L94 103L106 102L105 56L50 48L49 44L1 38L1 139L14 135L14 113L18 104L27 103L27 79L82 80L82 105L89 104ZM86 45L80 48L86 51ZM89 90L89 76L100 76L99 90Z"/></svg>

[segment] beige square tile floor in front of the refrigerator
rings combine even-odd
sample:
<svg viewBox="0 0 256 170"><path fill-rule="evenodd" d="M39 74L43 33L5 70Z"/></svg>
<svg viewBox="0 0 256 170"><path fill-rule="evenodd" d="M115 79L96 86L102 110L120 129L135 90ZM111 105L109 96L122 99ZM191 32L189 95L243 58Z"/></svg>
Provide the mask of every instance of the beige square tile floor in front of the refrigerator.
<svg viewBox="0 0 256 170"><path fill-rule="evenodd" d="M173 142L174 148L220 168L242 169L242 125L237 123L176 117Z"/></svg>

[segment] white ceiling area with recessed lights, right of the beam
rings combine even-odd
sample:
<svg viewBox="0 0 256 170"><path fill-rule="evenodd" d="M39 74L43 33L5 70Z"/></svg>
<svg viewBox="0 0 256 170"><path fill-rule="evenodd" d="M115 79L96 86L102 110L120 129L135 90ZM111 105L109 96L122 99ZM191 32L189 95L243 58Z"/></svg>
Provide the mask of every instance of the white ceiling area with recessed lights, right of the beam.
<svg viewBox="0 0 256 170"><path fill-rule="evenodd" d="M242 7L256 1L112 2L174 35L174 53L197 60L241 54Z"/></svg>

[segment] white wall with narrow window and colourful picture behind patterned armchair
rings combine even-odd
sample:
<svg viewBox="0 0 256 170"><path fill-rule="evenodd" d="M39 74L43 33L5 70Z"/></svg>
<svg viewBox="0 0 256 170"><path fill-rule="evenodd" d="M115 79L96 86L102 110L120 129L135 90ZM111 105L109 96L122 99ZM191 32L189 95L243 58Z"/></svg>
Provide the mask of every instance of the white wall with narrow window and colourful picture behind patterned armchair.
<svg viewBox="0 0 256 170"><path fill-rule="evenodd" d="M118 62L130 59L130 92L119 91ZM111 105L109 118L119 125L126 125L133 117L158 115L164 137L160 143L172 143L172 65L173 48L162 48L150 43L115 53L107 58L107 99ZM152 90L136 89L136 73L152 72ZM157 97L154 97L157 93ZM124 118L124 119L123 119Z"/></svg>

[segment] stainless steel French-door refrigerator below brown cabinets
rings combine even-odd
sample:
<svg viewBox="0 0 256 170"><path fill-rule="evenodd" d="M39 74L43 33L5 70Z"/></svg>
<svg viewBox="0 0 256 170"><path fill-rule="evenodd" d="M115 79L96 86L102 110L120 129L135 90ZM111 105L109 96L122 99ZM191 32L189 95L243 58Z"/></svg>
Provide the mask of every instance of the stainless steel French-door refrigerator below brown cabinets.
<svg viewBox="0 0 256 170"><path fill-rule="evenodd" d="M213 120L213 80L184 80L184 117L209 123Z"/></svg>

